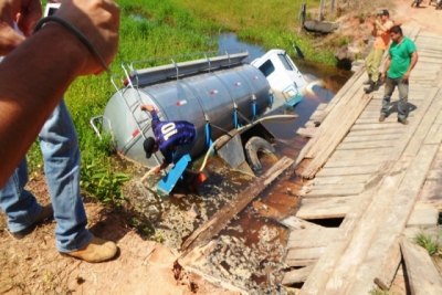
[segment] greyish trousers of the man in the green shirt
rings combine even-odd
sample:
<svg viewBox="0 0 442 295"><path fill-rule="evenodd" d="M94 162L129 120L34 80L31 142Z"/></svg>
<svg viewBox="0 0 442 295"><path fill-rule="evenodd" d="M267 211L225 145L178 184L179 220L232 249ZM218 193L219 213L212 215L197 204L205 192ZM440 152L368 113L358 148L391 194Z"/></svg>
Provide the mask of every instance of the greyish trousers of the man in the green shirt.
<svg viewBox="0 0 442 295"><path fill-rule="evenodd" d="M385 94L382 99L382 108L380 113L388 115L390 107L391 95L393 94L394 87L398 86L399 89L399 102L398 102L398 118L403 120L407 119L409 107L408 107L408 82L400 78L387 77Z"/></svg>

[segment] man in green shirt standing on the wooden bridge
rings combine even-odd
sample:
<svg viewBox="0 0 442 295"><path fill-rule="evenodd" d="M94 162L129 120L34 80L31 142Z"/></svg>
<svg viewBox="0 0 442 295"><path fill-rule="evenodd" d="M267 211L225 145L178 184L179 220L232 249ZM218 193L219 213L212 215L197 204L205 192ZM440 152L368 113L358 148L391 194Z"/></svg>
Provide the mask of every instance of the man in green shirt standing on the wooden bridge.
<svg viewBox="0 0 442 295"><path fill-rule="evenodd" d="M408 120L408 87L411 70L418 62L418 51L415 44L409 38L403 36L402 29L393 25L390 29L392 43L388 51L388 57L383 67L381 78L386 81L382 108L380 109L379 122L383 122L389 114L390 99L398 86L398 122L407 125Z"/></svg>

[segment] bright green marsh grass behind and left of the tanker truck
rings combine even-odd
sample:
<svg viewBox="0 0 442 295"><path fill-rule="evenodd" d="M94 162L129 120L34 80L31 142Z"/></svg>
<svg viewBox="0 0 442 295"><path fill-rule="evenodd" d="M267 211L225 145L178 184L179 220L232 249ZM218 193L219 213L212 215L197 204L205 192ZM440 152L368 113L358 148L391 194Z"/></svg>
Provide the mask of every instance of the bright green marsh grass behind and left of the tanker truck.
<svg viewBox="0 0 442 295"><path fill-rule="evenodd" d="M297 34L298 8L303 1L201 1L119 0L122 10L118 53L110 65L123 76L122 62L165 60L218 49L219 32L233 31L240 39L265 49L282 48L294 55L296 43L307 60L332 64L333 54L315 49L312 39ZM318 0L307 1L317 6ZM150 65L156 65L151 62ZM106 74L77 78L65 94L82 151L82 188L104 202L120 203L120 185L128 179L115 165L109 140L98 140L90 126L104 112L115 88ZM28 154L30 171L42 171L42 158L34 145Z"/></svg>

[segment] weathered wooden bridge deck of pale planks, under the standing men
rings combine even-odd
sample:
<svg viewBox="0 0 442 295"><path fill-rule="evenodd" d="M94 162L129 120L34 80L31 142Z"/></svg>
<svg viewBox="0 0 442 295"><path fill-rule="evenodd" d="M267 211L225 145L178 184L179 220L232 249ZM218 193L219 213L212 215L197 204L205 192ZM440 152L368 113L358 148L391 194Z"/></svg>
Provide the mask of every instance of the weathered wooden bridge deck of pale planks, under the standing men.
<svg viewBox="0 0 442 295"><path fill-rule="evenodd" d="M418 46L409 125L379 123L383 87L366 95L364 69L316 114L319 127L301 151L304 189L287 245L285 283L301 294L369 294L389 288L407 247L404 234L435 225L442 203L442 36L404 30ZM392 102L398 99L396 89ZM338 228L311 222L340 218ZM415 231L414 231L415 233ZM409 252L407 252L409 253ZM411 263L411 262L410 262ZM430 267L427 267L430 268ZM421 276L432 277L424 274ZM428 270L430 271L430 270ZM410 274L409 274L410 275ZM442 294L442 278L415 294ZM375 284L376 282L376 284ZM434 293L435 292L435 293Z"/></svg>

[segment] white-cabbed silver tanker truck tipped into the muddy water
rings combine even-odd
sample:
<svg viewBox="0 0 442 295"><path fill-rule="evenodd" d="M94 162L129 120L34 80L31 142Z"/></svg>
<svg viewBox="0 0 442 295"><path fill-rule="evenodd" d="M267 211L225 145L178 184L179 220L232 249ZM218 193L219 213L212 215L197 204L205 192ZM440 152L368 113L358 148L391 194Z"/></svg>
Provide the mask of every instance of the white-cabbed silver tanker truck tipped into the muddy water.
<svg viewBox="0 0 442 295"><path fill-rule="evenodd" d="M160 151L145 157L143 143L154 133L150 114L140 105L154 105L160 119L192 123L194 145L187 151L178 148L182 161L158 183L164 193L171 191L192 159L209 149L234 169L256 171L261 168L253 155L256 149L274 152L270 144L274 137L261 122L269 112L298 103L306 82L283 50L271 50L251 64L245 57L246 52L145 69L138 69L140 62L123 64L124 87L113 80L117 91L91 124L98 136L112 135L120 155L151 168L162 157Z"/></svg>

